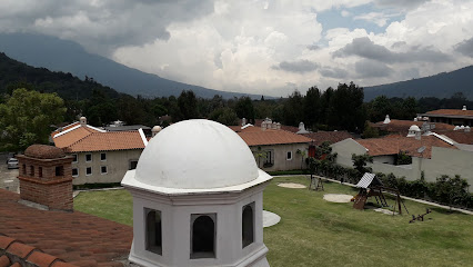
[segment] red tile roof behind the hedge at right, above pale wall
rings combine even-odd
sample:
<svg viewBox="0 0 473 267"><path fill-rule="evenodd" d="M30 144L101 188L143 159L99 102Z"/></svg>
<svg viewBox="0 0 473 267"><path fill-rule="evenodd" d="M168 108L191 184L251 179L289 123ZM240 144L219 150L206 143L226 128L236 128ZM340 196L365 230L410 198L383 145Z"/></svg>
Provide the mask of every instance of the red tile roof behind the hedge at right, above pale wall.
<svg viewBox="0 0 473 267"><path fill-rule="evenodd" d="M384 138L358 139L355 140L368 149L371 156L395 155L399 151L405 151L413 157L431 158L432 147L444 147L457 149L434 136L422 136L421 140L413 137L389 136ZM425 146L423 154L417 149Z"/></svg>

